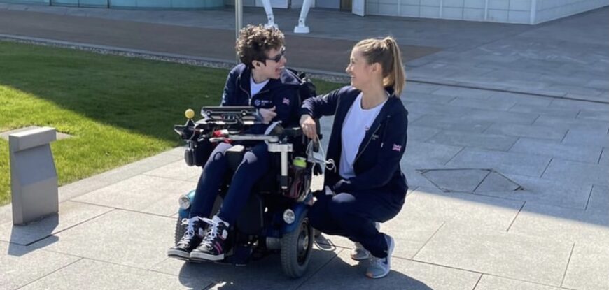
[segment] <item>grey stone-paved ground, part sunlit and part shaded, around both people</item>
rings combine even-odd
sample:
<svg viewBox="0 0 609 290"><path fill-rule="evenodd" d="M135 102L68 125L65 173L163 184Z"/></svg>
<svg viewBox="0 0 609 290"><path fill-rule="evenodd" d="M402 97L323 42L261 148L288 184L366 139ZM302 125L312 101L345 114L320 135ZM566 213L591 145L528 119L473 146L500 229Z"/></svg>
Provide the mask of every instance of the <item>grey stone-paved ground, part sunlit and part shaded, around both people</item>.
<svg viewBox="0 0 609 290"><path fill-rule="evenodd" d="M0 13L25 7L3 4ZM230 10L27 8L232 25ZM278 12L279 24L292 26L293 14ZM260 15L248 10L246 20ZM59 219L13 226L10 206L0 208L0 289L609 289L608 16L602 8L528 27L311 13L307 37L321 43L337 28L346 40L391 32L402 45L442 50L407 64L411 79L433 84L409 82L402 96L411 190L398 217L381 225L397 241L383 280L363 277L366 264L351 261L349 242L334 236L300 280L284 278L276 256L244 268L167 259L176 198L199 174L176 148L61 187ZM323 119L326 136L331 121ZM458 168L494 171L426 171Z"/></svg>

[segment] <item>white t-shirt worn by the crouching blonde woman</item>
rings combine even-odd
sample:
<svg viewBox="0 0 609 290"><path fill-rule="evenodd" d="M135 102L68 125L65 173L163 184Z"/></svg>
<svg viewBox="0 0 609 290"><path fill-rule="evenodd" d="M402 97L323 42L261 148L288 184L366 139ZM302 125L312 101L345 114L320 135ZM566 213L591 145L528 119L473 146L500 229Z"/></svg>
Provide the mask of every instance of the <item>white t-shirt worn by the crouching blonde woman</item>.
<svg viewBox="0 0 609 290"><path fill-rule="evenodd" d="M339 167L340 176L343 178L356 176L353 170L353 161L355 161L366 131L370 129L374 119L377 118L386 102L387 100L372 109L364 110L362 108L362 94L360 93L349 108L349 112L346 113L341 131L342 154L340 155Z"/></svg>

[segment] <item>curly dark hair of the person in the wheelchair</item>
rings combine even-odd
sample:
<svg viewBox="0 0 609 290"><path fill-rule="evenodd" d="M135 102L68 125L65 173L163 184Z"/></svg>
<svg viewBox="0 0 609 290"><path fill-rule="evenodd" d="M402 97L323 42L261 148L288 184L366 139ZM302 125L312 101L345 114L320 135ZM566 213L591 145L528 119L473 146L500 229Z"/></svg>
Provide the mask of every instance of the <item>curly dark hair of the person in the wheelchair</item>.
<svg viewBox="0 0 609 290"><path fill-rule="evenodd" d="M273 48L281 49L284 43L283 32L274 27L265 28L262 25L248 25L239 31L235 50L239 59L248 68L253 68L252 61L265 62L267 52Z"/></svg>

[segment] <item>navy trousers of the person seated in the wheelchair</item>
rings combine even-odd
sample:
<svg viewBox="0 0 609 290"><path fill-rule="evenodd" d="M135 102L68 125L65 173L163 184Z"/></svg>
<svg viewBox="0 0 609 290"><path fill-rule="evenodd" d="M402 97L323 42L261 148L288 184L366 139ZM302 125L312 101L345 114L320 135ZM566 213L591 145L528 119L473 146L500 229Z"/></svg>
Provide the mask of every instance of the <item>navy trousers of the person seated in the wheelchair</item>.
<svg viewBox="0 0 609 290"><path fill-rule="evenodd" d="M226 150L230 147L232 145L228 143L218 144L207 159L197 184L190 217L209 217L211 215L214 201L220 193L219 189L229 170ZM251 194L253 184L267 173L269 164L270 154L266 143L258 143L244 154L241 164L232 176L230 187L222 203L222 208L218 212L218 217L229 224L233 224L237 220Z"/></svg>

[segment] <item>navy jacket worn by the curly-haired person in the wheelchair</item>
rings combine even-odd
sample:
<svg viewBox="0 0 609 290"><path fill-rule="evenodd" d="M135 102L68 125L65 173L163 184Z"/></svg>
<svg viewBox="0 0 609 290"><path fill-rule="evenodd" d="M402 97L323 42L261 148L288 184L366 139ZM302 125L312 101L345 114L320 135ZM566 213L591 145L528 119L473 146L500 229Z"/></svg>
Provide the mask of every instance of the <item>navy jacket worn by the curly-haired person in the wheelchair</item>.
<svg viewBox="0 0 609 290"><path fill-rule="evenodd" d="M290 70L283 69L279 79L270 79L258 94L250 96L251 68L239 64L228 73L220 106L253 106L273 108L277 115L272 122L281 121L282 126L298 126L302 80ZM248 129L248 133L262 134L268 125L258 124Z"/></svg>

